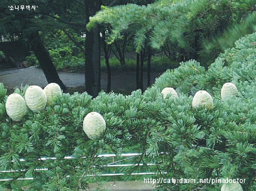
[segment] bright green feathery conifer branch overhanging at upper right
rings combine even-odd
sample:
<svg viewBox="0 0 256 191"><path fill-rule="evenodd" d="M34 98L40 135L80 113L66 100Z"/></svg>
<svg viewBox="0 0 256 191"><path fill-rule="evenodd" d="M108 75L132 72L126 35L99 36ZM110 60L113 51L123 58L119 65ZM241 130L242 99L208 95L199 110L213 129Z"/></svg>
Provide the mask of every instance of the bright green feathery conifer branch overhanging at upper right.
<svg viewBox="0 0 256 191"><path fill-rule="evenodd" d="M90 17L87 29L91 30L97 23L110 26L108 43L128 33L138 53L146 45L158 50L168 47L172 57L176 58L178 53L189 60L198 58L202 39L222 33L255 11L255 3L251 0L160 0L147 6L127 4L101 8Z"/></svg>

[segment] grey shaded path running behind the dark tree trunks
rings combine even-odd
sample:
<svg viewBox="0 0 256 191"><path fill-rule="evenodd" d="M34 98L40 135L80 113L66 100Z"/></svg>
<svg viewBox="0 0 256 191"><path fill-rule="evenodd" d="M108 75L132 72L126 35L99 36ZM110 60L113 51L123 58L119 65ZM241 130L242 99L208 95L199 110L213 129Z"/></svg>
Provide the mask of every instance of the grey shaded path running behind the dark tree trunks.
<svg viewBox="0 0 256 191"><path fill-rule="evenodd" d="M62 82L68 87L70 93L74 91L83 92L85 86L84 73L67 73L58 72ZM155 78L158 77L161 72L152 72L150 82L153 84ZM133 71L112 71L111 90L115 93L128 94L136 89L136 73ZM0 71L0 82L8 88L17 88L29 84L45 87L47 80L43 71L40 68L34 66L23 69L8 69ZM147 73L143 73L143 87L147 86ZM106 91L107 87L107 73L101 73L101 88Z"/></svg>

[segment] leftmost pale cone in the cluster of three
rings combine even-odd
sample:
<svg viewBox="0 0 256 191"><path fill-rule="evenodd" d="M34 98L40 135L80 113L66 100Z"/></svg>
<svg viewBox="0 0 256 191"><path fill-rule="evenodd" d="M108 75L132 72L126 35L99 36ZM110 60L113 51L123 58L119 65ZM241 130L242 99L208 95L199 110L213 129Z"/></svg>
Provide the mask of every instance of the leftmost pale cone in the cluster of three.
<svg viewBox="0 0 256 191"><path fill-rule="evenodd" d="M11 94L6 100L6 113L14 121L20 121L27 112L25 100L20 94Z"/></svg>

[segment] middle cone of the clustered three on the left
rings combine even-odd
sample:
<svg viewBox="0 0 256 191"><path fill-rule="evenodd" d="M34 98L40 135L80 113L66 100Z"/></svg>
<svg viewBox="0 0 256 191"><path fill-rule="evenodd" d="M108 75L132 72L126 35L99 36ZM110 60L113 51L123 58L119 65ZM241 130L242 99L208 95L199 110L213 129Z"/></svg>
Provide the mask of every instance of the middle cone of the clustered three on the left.
<svg viewBox="0 0 256 191"><path fill-rule="evenodd" d="M41 87L31 85L26 90L25 101L31 111L39 112L45 109L47 97L45 91Z"/></svg>

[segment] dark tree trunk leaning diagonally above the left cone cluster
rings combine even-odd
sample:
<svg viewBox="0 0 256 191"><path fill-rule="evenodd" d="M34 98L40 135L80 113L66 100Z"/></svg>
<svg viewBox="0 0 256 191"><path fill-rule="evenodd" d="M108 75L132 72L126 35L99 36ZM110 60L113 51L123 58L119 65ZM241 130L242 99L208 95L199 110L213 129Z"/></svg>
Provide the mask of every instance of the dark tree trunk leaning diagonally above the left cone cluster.
<svg viewBox="0 0 256 191"><path fill-rule="evenodd" d="M47 82L59 84L61 89L66 92L67 88L59 78L57 70L50 58L49 52L45 49L44 43L41 40L38 31L30 35L29 43L38 62L40 63Z"/></svg>

